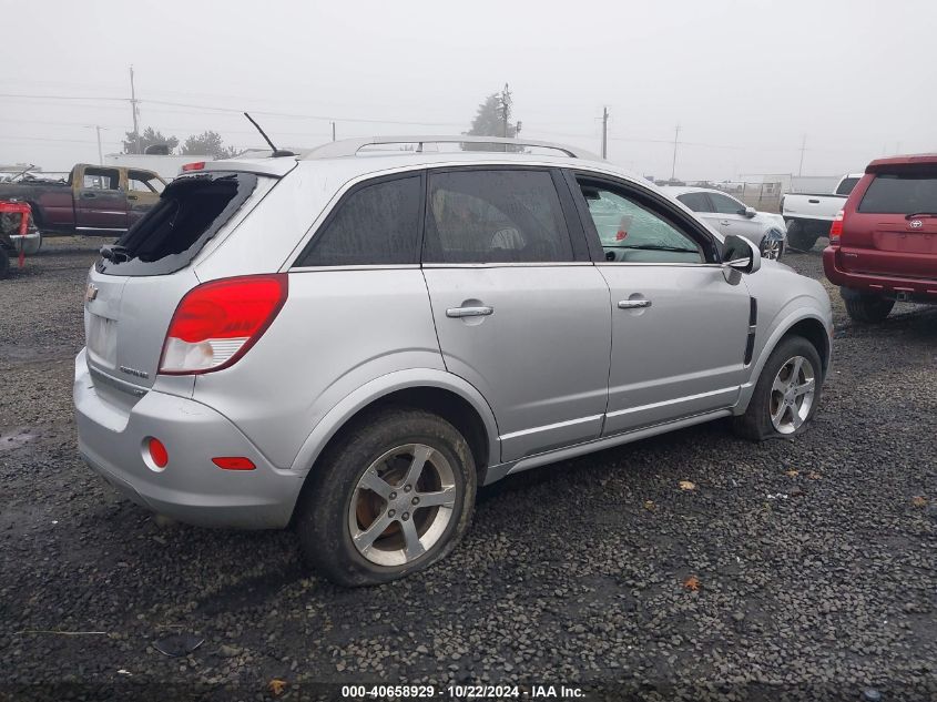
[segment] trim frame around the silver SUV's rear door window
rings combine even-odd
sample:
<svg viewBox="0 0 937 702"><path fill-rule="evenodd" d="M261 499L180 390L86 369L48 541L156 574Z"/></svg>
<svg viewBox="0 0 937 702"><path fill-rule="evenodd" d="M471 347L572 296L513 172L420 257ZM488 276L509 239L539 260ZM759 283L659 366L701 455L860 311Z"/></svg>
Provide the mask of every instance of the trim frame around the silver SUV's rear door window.
<svg viewBox="0 0 937 702"><path fill-rule="evenodd" d="M465 173L471 171L534 171L538 173L547 173L552 183L553 190L557 193L557 197L560 202L560 210L562 212L562 223L566 225L567 228L567 236L569 237L570 248L572 251L572 261L554 261L554 262L537 262L537 263L510 263L510 262L499 262L499 263L444 263L438 261L426 261L425 257L427 255L426 250L426 242L427 237L429 236L429 228L430 228L430 217L431 213L429 212L430 205L430 193L429 189L431 186L430 180L434 174L445 174L445 173ZM562 187L560 181L562 179L563 169L557 169L549 165L523 165L523 164L467 164L467 165L445 165L440 167L429 167L425 173L425 189L424 189L424 218L422 218L422 227L420 231L420 248L419 248L419 262L421 266L425 267L445 267L445 268L455 268L455 267L479 267L479 266L491 266L491 267L505 267L505 266L563 266L577 263L590 263L589 252L583 248L582 238L585 236L585 233L582 231L581 223L579 226L573 226L576 224L574 221L570 221L570 215L572 212L570 211L571 206L574 206L576 201L574 196L568 191L568 189ZM576 230L576 231L573 231ZM438 234L436 234L438 236ZM577 236L580 238L580 242L577 243ZM588 237L585 240L588 246Z"/></svg>

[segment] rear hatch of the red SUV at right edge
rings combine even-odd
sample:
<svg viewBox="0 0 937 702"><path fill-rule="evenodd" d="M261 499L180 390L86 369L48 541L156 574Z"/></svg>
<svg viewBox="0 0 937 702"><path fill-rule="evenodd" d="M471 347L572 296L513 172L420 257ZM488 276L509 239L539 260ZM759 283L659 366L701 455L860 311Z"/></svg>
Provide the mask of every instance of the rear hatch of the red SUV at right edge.
<svg viewBox="0 0 937 702"><path fill-rule="evenodd" d="M937 163L896 164L865 177L843 218L843 267L937 277Z"/></svg>

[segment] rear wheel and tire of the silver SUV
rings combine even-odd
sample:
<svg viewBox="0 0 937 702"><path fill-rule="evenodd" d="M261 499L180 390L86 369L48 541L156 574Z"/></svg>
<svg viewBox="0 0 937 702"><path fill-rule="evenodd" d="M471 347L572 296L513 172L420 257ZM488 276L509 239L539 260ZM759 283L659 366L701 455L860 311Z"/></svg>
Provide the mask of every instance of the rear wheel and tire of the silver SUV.
<svg viewBox="0 0 937 702"><path fill-rule="evenodd" d="M297 506L306 562L347 587L378 584L448 556L471 520L476 467L445 419L385 408L343 430Z"/></svg>

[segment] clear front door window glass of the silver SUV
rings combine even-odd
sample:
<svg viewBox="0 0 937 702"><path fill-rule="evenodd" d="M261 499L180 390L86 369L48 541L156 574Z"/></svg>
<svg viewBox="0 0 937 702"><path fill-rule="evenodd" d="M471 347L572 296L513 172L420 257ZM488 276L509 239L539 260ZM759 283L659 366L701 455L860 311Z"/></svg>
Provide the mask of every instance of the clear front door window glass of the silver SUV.
<svg viewBox="0 0 937 702"><path fill-rule="evenodd" d="M705 263L693 238L624 192L581 184L607 261Z"/></svg>

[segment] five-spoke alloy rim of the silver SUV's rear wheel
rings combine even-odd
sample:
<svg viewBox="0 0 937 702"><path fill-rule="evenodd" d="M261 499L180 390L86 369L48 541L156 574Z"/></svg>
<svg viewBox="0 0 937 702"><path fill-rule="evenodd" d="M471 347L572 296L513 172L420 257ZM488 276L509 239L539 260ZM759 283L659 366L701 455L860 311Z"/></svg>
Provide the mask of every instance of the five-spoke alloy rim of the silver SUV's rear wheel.
<svg viewBox="0 0 937 702"><path fill-rule="evenodd" d="M452 519L456 476L425 444L394 448L361 474L348 505L357 551L378 566L404 566L436 546Z"/></svg>

